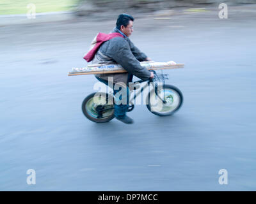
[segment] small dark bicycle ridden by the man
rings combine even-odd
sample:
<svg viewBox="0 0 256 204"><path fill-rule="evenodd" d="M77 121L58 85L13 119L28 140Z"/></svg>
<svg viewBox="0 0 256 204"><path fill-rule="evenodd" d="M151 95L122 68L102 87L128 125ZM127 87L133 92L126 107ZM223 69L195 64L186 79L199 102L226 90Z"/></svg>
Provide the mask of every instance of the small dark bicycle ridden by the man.
<svg viewBox="0 0 256 204"><path fill-rule="evenodd" d="M137 86L135 86L132 91L137 91L141 94L144 89L148 87L148 110L159 116L172 115L173 113L177 112L182 105L182 92L173 85L165 84L165 80L168 79L168 75L156 73L154 70L150 71L153 71L154 78L133 82ZM143 82L146 83L141 87ZM163 83L163 86L159 85L158 82ZM141 88L140 91L138 91L138 85ZM132 94L129 94L129 108L127 112L131 112L134 109L134 100L136 100L136 97L138 96L137 92L134 94L133 98L131 97ZM152 100L154 100L154 98L156 99L156 96L157 107L154 107ZM82 103L82 111L85 117L93 122L109 122L115 117L114 98L115 96L113 96L113 94L108 94L105 92L93 92L92 94L88 95L86 98L84 98Z"/></svg>

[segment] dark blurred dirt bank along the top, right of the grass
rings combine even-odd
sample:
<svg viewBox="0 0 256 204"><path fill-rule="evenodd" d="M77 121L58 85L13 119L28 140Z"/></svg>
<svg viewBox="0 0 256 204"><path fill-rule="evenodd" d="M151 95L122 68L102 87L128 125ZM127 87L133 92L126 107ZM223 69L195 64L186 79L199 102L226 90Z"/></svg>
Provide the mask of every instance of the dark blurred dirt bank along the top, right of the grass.
<svg viewBox="0 0 256 204"><path fill-rule="evenodd" d="M77 15L91 15L108 11L127 11L127 13L152 12L186 7L218 6L226 3L230 6L253 4L256 0L79 0Z"/></svg>

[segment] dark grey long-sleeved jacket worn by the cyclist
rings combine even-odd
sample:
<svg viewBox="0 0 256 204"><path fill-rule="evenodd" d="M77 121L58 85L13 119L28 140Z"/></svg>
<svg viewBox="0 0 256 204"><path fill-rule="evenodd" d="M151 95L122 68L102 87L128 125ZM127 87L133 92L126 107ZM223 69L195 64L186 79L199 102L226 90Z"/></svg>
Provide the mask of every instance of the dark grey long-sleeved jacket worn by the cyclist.
<svg viewBox="0 0 256 204"><path fill-rule="evenodd" d="M120 33L118 29L113 29L111 33ZM142 80L150 77L150 71L140 65L140 61L145 61L147 55L135 47L129 38L116 37L104 42L95 54L92 64L120 64L124 69ZM128 73L97 74L96 77L108 80L113 77L113 82L124 82L127 84Z"/></svg>

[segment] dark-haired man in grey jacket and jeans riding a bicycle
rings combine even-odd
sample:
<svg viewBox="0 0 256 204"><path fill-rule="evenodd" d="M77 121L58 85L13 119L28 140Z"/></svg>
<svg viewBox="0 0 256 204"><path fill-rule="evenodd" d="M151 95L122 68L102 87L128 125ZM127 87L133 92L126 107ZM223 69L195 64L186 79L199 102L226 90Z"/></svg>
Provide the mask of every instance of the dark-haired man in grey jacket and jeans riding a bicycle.
<svg viewBox="0 0 256 204"><path fill-rule="evenodd" d="M111 36L107 36L99 49L95 53L92 64L120 64L127 73L109 73L109 74L97 74L95 77L104 84L108 85L109 79L113 80L113 84L122 83L127 89L127 103L115 104L114 115L116 119L131 124L133 120L126 115L129 108L129 82L132 82L132 77L135 75L141 80L147 80L148 78L154 78L154 74L148 71L147 68L143 68L140 65L140 61L151 61L147 55L141 52L134 46L129 36L133 31L134 18L131 15L121 14L116 20L116 27L111 31ZM109 37L109 38L108 38ZM86 59L84 57L84 59ZM86 59L86 61L88 61ZM114 95L119 90L114 89ZM121 95L122 96L122 95ZM119 98L121 99L121 98Z"/></svg>

